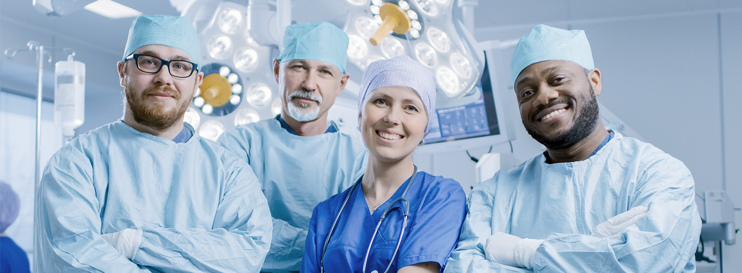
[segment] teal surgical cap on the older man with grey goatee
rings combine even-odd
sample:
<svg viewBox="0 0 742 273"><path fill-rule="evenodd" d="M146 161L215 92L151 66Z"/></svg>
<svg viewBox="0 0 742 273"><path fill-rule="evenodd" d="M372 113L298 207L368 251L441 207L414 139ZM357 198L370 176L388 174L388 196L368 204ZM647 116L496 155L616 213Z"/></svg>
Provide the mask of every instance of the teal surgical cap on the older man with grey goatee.
<svg viewBox="0 0 742 273"><path fill-rule="evenodd" d="M292 24L283 34L278 62L313 59L335 65L345 73L348 60L348 35L335 24L313 22Z"/></svg>

